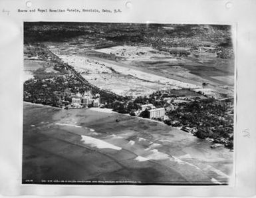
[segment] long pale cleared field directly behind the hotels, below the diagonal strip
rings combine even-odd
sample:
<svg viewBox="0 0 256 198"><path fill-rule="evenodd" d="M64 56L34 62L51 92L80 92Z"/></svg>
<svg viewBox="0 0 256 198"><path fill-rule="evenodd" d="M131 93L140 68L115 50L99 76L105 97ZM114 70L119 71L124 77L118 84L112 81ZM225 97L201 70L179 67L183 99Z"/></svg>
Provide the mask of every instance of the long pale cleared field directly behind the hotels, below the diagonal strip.
<svg viewBox="0 0 256 198"><path fill-rule="evenodd" d="M128 96L145 96L160 89L198 88L198 86L166 78L154 72L145 71L122 62L91 58L90 56L66 54L59 47L51 50L64 62L73 66L88 82L100 88L111 90L116 94ZM70 51L69 51L70 52Z"/></svg>

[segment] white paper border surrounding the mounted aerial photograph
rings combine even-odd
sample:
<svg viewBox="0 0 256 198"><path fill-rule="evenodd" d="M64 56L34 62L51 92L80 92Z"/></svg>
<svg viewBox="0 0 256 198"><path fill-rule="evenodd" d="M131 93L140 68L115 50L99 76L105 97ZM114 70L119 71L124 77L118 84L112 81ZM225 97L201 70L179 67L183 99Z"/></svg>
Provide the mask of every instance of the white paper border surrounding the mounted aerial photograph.
<svg viewBox="0 0 256 198"><path fill-rule="evenodd" d="M7 45L14 49L13 54L19 54L19 61L15 64L15 61L6 61L4 58L4 64L9 66L9 68L1 68L1 72L8 73L7 69L15 69L13 78L13 84L11 87L21 94L21 97L17 97L17 93L11 93L4 91L3 94L9 94L9 97L14 97L11 102L18 104L18 113L15 118L19 118L19 125L14 124L10 127L11 122L8 122L9 126L1 122L1 143L0 149L2 151L9 151L11 157L6 157L6 155L1 155L0 162L1 167L7 170L0 171L0 193L3 194L17 194L17 195L137 195L137 196L178 196L178 195L197 195L197 196L248 196L255 194L255 126L253 126L253 118L255 120L255 104L253 105L253 98L255 98L255 88L253 88L253 82L255 79L251 78L253 72L255 72L256 59L253 56L253 50L255 50L255 1L249 0L239 0L230 1L233 3L233 7L230 9L225 8L225 3L227 1L218 0L182 0L182 1L146 1L138 0L131 1L132 8L125 9L124 5L126 1L115 1L115 0L100 0L100 1L32 1L33 6L46 7L50 6L66 6L66 7L78 7L78 6L92 6L92 7L120 7L125 9L121 17L116 17L114 15L104 16L104 15L85 15L86 17L80 17L77 15L20 15L15 13L15 10L19 7L21 9L25 8L26 1L0 1L1 7L9 10L9 15L1 12L1 27L7 30L6 35L4 33L4 38L7 40L1 41L0 52L3 54ZM53 3L54 2L54 3ZM72 3L70 5L70 3ZM180 9L177 9L180 8ZM72 18L71 18L72 17ZM237 24L237 56L235 65L237 66L237 88L238 97L237 99L237 123L235 130L235 156L236 163L234 163L235 169L235 183L234 186L152 186L152 185L21 185L21 159L22 159L22 108L19 104L22 102L22 84L21 76L17 78L22 72L21 64L23 64L23 21L80 21L80 22L109 22L109 23L146 23L148 21L154 23L189 23L189 24L218 24L218 25L230 25ZM234 27L234 25L233 25ZM11 37L11 38L9 38ZM9 39L9 40L8 40ZM15 42L14 42L15 41ZM254 45L253 45L254 44ZM245 52L250 56L247 59ZM11 54L7 53L9 58L13 58ZM17 58L17 56L16 56ZM244 64L242 64L242 62ZM246 66L246 69L244 68ZM17 72L19 71L19 72ZM241 77L240 77L241 76ZM247 78L246 78L247 76ZM15 81L16 79L16 81ZM18 82L17 79L20 79ZM251 84L251 92L247 92L248 81ZM6 81L1 78L1 91L5 89L2 86ZM17 86L19 84L19 86ZM256 84L256 83L254 83ZM19 88L19 89L17 89ZM244 97L244 96L247 96ZM248 99L249 98L249 99ZM5 97L1 98L1 104L6 101L3 100ZM249 100L249 101L248 101ZM245 105L246 104L246 105ZM249 106L248 106L249 104ZM248 108L251 107L251 108ZM8 106L6 107L7 111ZM3 111L6 113L7 111ZM9 110L8 116L13 116L15 114L15 109L11 108ZM1 114L1 118L7 116L6 114ZM243 117L244 116L244 117ZM5 119L3 119L5 120ZM249 129L251 132L251 138L247 140L243 136L243 131ZM18 136L14 136L18 135ZM2 138L3 137L3 138ZM19 138L17 138L19 137ZM19 148L13 148L13 144L8 144L10 138L14 142L18 142ZM15 138L17 138L15 140ZM240 139L241 138L241 139ZM7 142L5 142L7 140ZM246 148L249 146L249 148ZM17 149L19 150L17 152ZM19 156L17 155L19 153ZM17 157L18 156L18 157ZM7 159L8 158L8 159ZM3 179L1 176L3 175Z"/></svg>

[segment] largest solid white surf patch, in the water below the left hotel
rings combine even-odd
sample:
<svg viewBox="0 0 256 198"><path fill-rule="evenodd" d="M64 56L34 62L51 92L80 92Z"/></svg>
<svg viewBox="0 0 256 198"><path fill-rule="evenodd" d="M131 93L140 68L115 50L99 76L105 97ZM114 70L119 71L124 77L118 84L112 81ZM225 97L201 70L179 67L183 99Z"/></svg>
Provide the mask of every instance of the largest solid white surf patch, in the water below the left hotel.
<svg viewBox="0 0 256 198"><path fill-rule="evenodd" d="M115 150L121 150L122 148L118 146L114 146L113 144L109 144L108 142L105 142L103 140L99 140L96 138L92 138L90 136L81 136L82 137L82 142L84 144L89 144L92 147L104 149L104 148L109 148L109 149L115 149Z"/></svg>

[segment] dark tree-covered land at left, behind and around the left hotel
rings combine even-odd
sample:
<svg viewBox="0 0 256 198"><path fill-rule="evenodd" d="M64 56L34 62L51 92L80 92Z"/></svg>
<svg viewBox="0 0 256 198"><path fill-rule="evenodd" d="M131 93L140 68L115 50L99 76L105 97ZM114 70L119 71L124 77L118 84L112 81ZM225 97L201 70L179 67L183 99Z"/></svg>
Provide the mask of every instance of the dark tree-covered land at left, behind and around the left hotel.
<svg viewBox="0 0 256 198"><path fill-rule="evenodd" d="M116 100L127 101L129 97L119 96L113 92L102 90L82 78L72 66L64 62L55 54L45 49L43 45L29 47L25 54L30 57L37 56L48 64L54 65L57 72L47 72L45 68L39 68L33 72L34 79L24 83L24 100L27 102L47 104L63 107L71 101L71 96L90 90L92 94L100 94L100 100L107 108L112 108Z"/></svg>

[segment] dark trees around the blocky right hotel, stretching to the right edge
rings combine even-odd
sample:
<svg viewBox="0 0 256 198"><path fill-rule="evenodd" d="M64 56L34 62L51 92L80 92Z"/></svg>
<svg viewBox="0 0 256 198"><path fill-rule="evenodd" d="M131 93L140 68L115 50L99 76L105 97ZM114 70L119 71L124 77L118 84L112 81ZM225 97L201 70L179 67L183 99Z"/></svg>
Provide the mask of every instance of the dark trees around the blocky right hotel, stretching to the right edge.
<svg viewBox="0 0 256 198"><path fill-rule="evenodd" d="M165 107L166 116L169 119L164 120L164 123L180 128L196 128L194 135L197 138L211 138L213 142L233 149L233 99L215 100L214 98L192 97L192 100L178 104L175 110L168 110L170 103L164 100L166 96L178 98L183 95L179 94L178 90L171 90L170 94L158 91L150 96L137 97L128 102L114 102L112 107L116 112L130 113L132 116L136 115L134 111L138 110L141 104L150 103L156 108ZM147 118L147 110L141 112L140 116Z"/></svg>

